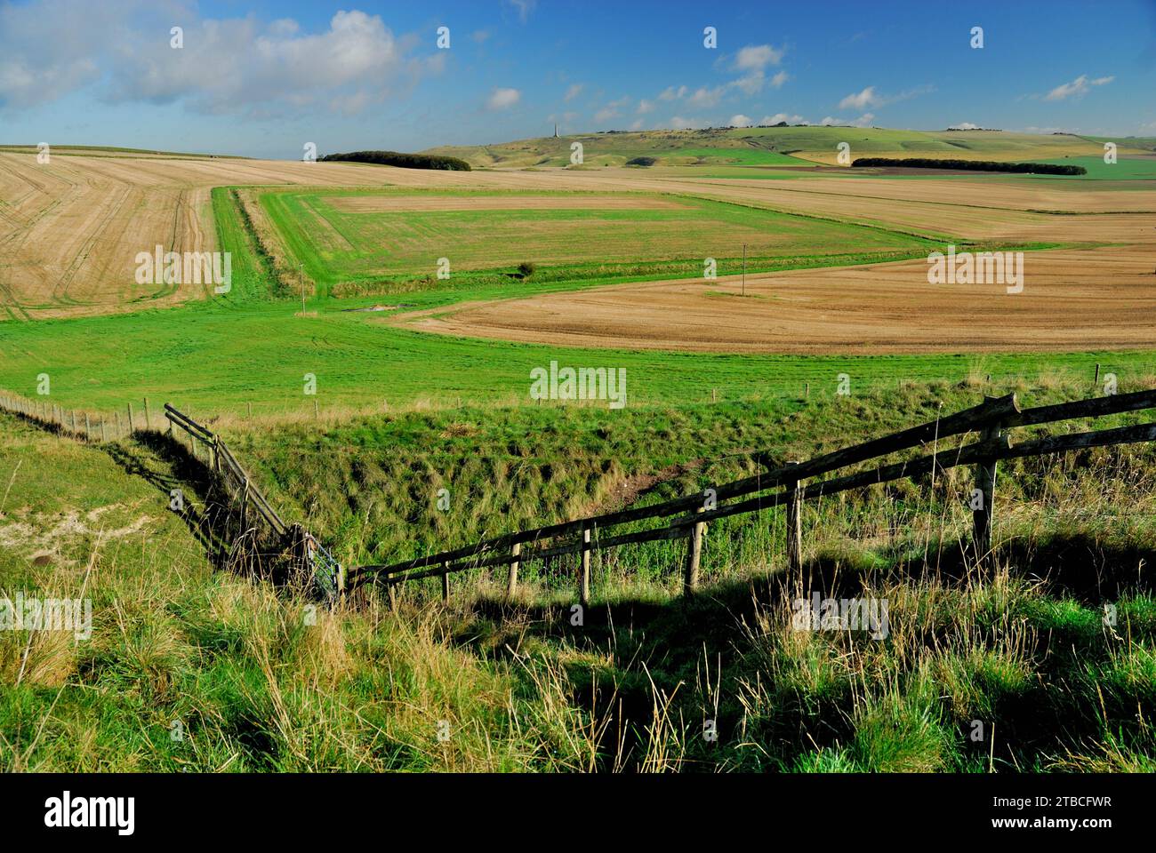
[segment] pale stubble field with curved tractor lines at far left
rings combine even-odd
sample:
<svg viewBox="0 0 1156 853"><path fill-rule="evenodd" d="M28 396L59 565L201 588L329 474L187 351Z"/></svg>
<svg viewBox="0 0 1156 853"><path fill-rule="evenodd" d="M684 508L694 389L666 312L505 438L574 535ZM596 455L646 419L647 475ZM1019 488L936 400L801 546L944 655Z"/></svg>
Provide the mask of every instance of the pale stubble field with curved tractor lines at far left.
<svg viewBox="0 0 1156 853"><path fill-rule="evenodd" d="M231 184L384 183L344 163L0 153L0 319L173 305L207 287L140 285L138 252L217 249L209 206Z"/></svg>

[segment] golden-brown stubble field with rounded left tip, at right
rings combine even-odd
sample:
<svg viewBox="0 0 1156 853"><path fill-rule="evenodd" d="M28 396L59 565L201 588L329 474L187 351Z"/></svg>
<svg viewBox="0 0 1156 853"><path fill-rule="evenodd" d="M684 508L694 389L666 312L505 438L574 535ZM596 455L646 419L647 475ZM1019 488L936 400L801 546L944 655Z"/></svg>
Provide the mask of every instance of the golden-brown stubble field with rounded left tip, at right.
<svg viewBox="0 0 1156 853"><path fill-rule="evenodd" d="M927 262L621 284L395 314L423 332L568 347L820 355L1139 349L1153 249L1024 253L1021 294L929 284ZM743 294L746 297L743 297Z"/></svg>

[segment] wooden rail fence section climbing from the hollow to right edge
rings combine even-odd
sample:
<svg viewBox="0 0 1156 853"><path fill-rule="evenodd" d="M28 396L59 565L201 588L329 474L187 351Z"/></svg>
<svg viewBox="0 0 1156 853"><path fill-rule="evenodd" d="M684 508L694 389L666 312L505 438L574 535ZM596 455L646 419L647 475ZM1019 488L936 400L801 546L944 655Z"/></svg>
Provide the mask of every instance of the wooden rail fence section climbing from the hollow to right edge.
<svg viewBox="0 0 1156 853"><path fill-rule="evenodd" d="M791 569L796 569L802 564L803 531L800 509L803 502L818 500L849 489L910 479L961 465L975 466L975 490L968 502L972 507L973 521L971 548L977 563L984 563L991 552L995 476L1000 460L1156 440L1156 423L1053 435L1023 444L1011 444L1010 429L1150 408L1156 408L1156 391L1091 398L1023 410L1015 394L986 398L983 403L954 415L824 453L805 462L770 467L764 455L756 454L756 459L766 469L754 476L714 487L711 496L713 500L707 500L704 494L687 495L652 506L519 531L390 565L358 566L349 570L348 584L354 586L376 580L392 593L395 585L408 580L440 577L442 594L447 599L451 574L475 569L507 566L506 593L512 596L518 588L518 572L524 563L580 554L578 598L583 603L588 603L591 555L594 551L639 542L687 539L683 592L689 595L698 585L703 537L706 535L707 524L714 519L784 506L787 521L787 562ZM938 450L940 439L969 433L977 435L978 440L947 451ZM928 444L932 445L931 452L913 459L818 479L901 451L916 447L926 450ZM775 489L777 491L771 491ZM615 527L647 519L670 520L644 531L616 534L613 531Z"/></svg>

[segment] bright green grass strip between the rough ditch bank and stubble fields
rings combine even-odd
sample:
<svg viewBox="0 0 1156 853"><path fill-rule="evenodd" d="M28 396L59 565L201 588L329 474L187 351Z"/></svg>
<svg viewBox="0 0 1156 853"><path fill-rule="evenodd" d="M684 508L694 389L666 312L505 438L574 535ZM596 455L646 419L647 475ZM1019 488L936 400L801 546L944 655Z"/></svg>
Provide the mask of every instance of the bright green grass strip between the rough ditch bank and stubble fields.
<svg viewBox="0 0 1156 853"><path fill-rule="evenodd" d="M422 294L406 296L415 305ZM444 294L439 298L446 298ZM350 301L349 306L373 301ZM631 405L833 393L846 372L862 388L898 381L962 380L1072 372L1096 363L1121 379L1151 373L1146 351L938 356L738 356L631 353L454 339L385 326L380 313L329 305L302 318L299 304L191 305L168 311L0 327L0 386L34 396L51 377L52 401L67 408L123 409L149 396L201 414L312 413L343 407L385 410L431 402L529 405L529 371L560 363L625 368ZM304 395L304 376L317 395Z"/></svg>

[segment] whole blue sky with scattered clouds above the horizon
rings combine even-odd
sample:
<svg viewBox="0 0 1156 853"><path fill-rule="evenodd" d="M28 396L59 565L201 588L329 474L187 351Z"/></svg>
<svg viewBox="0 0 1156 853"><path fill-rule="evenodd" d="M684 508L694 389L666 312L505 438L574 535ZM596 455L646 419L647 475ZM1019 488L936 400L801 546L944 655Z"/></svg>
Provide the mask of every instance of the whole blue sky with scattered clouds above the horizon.
<svg viewBox="0 0 1156 853"><path fill-rule="evenodd" d="M1156 135L1154 72L1156 0L0 0L0 143L298 158L555 121Z"/></svg>

